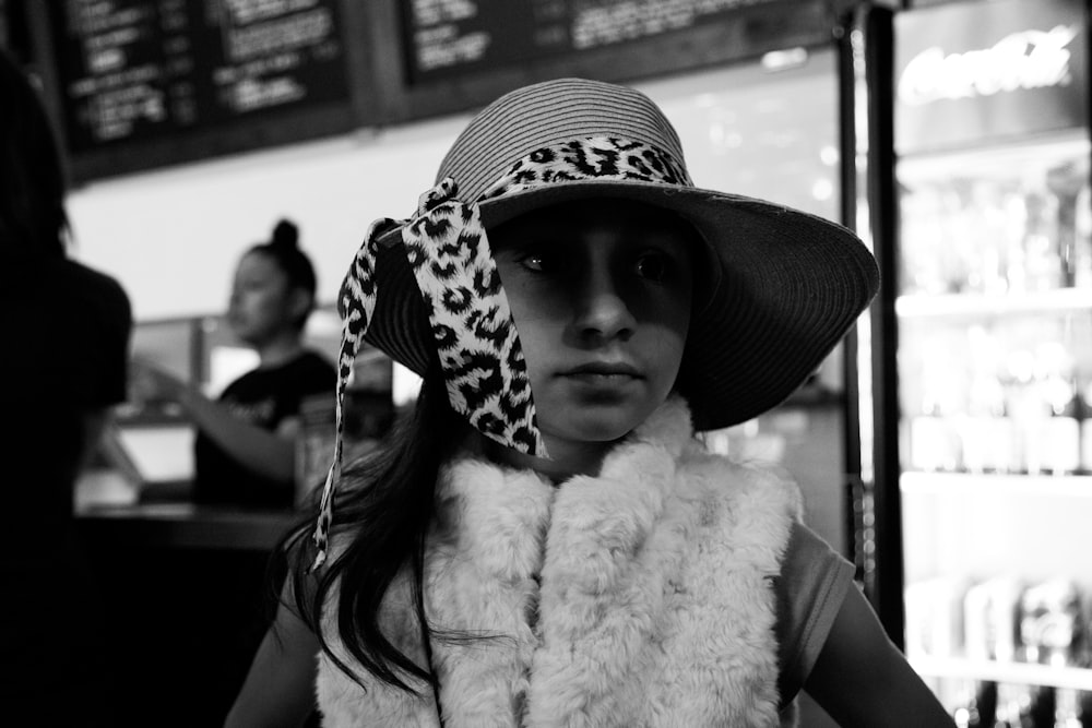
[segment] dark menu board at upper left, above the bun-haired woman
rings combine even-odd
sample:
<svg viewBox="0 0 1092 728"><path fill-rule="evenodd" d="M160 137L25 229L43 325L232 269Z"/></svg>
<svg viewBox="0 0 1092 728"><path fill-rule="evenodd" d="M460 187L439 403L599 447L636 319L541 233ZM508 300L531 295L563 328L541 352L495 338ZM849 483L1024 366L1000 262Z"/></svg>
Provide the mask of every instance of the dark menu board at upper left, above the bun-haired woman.
<svg viewBox="0 0 1092 728"><path fill-rule="evenodd" d="M57 2L49 25L69 151L347 99L337 1Z"/></svg>

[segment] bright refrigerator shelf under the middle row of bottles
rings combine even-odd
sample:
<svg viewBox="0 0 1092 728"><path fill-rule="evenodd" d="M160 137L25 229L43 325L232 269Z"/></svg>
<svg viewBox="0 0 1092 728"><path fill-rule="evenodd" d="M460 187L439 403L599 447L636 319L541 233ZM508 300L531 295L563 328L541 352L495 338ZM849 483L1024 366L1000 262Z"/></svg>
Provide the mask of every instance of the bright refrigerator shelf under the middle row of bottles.
<svg viewBox="0 0 1092 728"><path fill-rule="evenodd" d="M903 494L1055 496L1092 500L1092 475L903 472Z"/></svg>

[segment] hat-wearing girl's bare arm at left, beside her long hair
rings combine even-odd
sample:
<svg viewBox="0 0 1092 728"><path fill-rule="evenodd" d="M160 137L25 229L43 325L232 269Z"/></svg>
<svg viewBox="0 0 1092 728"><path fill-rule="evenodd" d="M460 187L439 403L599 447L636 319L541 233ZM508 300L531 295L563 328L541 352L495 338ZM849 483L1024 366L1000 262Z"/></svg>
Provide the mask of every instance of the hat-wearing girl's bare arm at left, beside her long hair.
<svg viewBox="0 0 1092 728"><path fill-rule="evenodd" d="M319 641L284 599L224 728L298 728L314 709Z"/></svg>

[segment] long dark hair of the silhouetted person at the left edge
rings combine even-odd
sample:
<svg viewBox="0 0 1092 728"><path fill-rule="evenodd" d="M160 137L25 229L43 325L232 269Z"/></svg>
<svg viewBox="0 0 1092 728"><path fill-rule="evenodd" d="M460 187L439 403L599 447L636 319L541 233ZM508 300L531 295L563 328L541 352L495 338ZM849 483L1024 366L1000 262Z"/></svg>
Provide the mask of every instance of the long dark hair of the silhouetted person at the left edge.
<svg viewBox="0 0 1092 728"><path fill-rule="evenodd" d="M0 255L63 258L64 170L38 92L0 50Z"/></svg>

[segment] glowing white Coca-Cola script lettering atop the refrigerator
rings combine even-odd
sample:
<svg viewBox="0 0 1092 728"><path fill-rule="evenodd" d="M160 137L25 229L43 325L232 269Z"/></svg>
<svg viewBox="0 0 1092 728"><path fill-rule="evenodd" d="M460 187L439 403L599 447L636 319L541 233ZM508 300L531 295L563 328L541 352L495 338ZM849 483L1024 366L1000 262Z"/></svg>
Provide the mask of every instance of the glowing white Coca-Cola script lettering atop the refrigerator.
<svg viewBox="0 0 1092 728"><path fill-rule="evenodd" d="M1022 31L1005 36L992 48L948 56L937 46L926 48L903 70L899 100L921 106L946 98L1068 85L1072 76L1067 46L1079 32L1068 25Z"/></svg>

